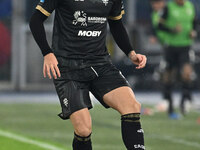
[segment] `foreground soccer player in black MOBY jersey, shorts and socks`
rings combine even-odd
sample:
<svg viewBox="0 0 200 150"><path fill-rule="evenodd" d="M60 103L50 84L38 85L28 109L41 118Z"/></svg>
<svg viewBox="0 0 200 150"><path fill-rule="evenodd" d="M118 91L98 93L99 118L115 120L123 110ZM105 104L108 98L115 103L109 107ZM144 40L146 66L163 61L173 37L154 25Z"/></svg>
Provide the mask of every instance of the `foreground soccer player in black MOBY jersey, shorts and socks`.
<svg viewBox="0 0 200 150"><path fill-rule="evenodd" d="M52 48L43 22L55 10ZM127 80L112 64L105 41L107 22L118 46L141 69L146 56L136 54L122 23L122 0L41 0L30 21L32 34L44 56L44 77L54 78L62 119L74 127L73 150L92 150L92 104L89 91L105 108L121 114L121 130L128 150L144 150L140 103Z"/></svg>

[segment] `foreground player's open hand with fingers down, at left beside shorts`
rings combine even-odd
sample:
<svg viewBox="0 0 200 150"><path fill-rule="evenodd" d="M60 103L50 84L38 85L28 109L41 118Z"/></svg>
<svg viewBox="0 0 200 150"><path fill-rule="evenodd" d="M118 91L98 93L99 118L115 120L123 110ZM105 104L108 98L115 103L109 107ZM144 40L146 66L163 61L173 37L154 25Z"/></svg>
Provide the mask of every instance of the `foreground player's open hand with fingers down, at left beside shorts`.
<svg viewBox="0 0 200 150"><path fill-rule="evenodd" d="M51 74L54 79L60 77L60 70L58 68L58 61L53 53L49 53L44 56L44 65L43 65L43 75L46 78L47 76L51 79Z"/></svg>

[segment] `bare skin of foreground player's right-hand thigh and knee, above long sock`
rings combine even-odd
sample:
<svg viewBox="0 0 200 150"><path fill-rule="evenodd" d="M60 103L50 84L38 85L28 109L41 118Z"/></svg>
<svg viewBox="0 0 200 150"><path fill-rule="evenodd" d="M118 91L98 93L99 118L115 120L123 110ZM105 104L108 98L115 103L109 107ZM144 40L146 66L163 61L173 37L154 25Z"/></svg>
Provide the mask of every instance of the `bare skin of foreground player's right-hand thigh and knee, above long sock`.
<svg viewBox="0 0 200 150"><path fill-rule="evenodd" d="M122 115L140 112L140 103L137 102L132 89L128 86L119 87L106 93L103 100Z"/></svg>

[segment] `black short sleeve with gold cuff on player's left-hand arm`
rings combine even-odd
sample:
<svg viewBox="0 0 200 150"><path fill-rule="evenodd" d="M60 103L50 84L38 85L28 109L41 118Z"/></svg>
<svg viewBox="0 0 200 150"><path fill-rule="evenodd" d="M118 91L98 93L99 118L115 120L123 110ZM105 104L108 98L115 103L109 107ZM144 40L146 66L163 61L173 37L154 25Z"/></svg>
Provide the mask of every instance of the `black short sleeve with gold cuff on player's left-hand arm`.
<svg viewBox="0 0 200 150"><path fill-rule="evenodd" d="M36 9L48 17L57 8L58 1L59 0L40 0Z"/></svg>

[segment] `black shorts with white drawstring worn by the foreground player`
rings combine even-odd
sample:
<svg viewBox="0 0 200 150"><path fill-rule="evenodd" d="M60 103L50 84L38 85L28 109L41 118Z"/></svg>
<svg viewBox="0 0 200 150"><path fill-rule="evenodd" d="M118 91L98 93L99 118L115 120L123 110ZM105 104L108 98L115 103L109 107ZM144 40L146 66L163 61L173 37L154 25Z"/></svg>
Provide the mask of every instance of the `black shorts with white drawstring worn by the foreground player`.
<svg viewBox="0 0 200 150"><path fill-rule="evenodd" d="M129 86L121 72L110 62L94 65L84 64L83 61L59 59L61 77L54 80L54 85L60 99L62 119L80 109L92 108L89 92L106 108L103 96L122 86Z"/></svg>

